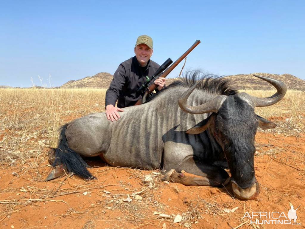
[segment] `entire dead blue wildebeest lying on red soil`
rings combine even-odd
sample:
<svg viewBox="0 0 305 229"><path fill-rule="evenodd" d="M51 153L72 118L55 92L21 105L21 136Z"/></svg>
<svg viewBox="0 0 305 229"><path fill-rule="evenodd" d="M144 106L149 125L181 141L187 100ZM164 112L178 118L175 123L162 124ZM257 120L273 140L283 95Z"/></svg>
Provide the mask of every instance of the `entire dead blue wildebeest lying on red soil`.
<svg viewBox="0 0 305 229"><path fill-rule="evenodd" d="M270 97L258 98L238 93L226 78L196 81L197 74L172 83L142 105L124 108L116 122L95 113L63 125L58 147L49 153L55 169L47 180L63 170L93 178L81 156L100 156L114 166L161 168L167 171L163 180L185 185L222 186L231 181L236 197L254 198L259 193L254 176L257 127L276 126L254 108L277 103L286 86L255 75L277 89Z"/></svg>

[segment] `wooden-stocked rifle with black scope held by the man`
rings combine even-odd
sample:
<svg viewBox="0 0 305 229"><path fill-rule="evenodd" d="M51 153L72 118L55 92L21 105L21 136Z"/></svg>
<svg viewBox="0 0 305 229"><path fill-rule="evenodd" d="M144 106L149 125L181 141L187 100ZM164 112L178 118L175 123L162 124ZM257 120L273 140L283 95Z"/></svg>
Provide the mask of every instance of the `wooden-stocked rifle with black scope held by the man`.
<svg viewBox="0 0 305 229"><path fill-rule="evenodd" d="M148 76L146 76L146 79L147 79L147 81L146 81L146 83L144 83L139 89L138 89L138 91L143 91L143 92L145 92L144 93L144 95L143 95L143 97L142 97L142 100L138 100L138 102L135 104L135 105L140 105L140 104L143 104L145 101L146 101L146 97L147 97L147 95L149 95L150 93L152 93L155 89L156 89L156 87L157 87L157 85L155 85L153 82L156 80L156 78L159 78L159 77L163 77L163 78L165 78L165 77L167 77L167 75L168 74L170 74L170 72L171 71L173 71L173 69L175 68L175 67L177 67L178 66L178 64L185 58L185 56L187 56L188 55L188 53L190 53L190 52L192 52L192 50L193 49L195 49L195 47L197 46L197 45L199 45L199 43L200 43L200 40L197 40L197 41L195 41L195 43L185 52L185 53L183 53L182 54L182 56L180 56L172 65L170 65L170 67L168 67L160 76L158 76L158 74L160 74L160 69L162 69L164 66L166 66L167 64L169 65L169 64L171 64L172 63L172 60L170 60L170 58L169 59L167 59L167 61L165 61L161 66L160 66L160 68L158 68L158 70L156 71L156 73L152 76L152 78L149 78ZM171 61L171 62L170 62ZM167 66L168 66L167 65ZM161 68L162 67L162 68ZM166 68L166 67L165 67ZM164 69L165 69L164 68ZM163 70L164 70L163 69ZM162 71L163 71L162 70ZM159 71L159 72L158 72Z"/></svg>

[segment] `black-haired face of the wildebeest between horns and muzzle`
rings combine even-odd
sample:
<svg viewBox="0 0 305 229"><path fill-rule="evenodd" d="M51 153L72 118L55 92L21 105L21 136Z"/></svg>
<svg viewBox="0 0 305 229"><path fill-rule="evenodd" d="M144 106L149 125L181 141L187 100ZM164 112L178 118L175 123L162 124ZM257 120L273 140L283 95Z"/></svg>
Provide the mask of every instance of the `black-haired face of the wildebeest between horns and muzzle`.
<svg viewBox="0 0 305 229"><path fill-rule="evenodd" d="M258 127L254 109L237 95L228 96L219 109L215 127L233 179L242 188L252 186L256 181L254 138Z"/></svg>

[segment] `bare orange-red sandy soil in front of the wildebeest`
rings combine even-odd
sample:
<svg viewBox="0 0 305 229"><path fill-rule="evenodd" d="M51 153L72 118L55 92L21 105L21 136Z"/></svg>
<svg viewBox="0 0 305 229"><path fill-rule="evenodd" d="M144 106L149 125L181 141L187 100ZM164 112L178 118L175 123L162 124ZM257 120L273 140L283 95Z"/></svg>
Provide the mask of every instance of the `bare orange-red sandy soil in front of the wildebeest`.
<svg viewBox="0 0 305 229"><path fill-rule="evenodd" d="M50 169L47 160L37 169L26 164L3 165L0 228L235 228L248 220L242 218L246 212L284 212L287 216L289 202L295 209L300 205L297 223L301 225L250 225L248 221L239 228L304 228L305 136L258 132L256 146L260 194L250 201L232 197L230 186L166 184L153 173L157 170L113 168L98 158L88 162L98 178L93 181L65 176L45 182ZM150 186L143 183L149 174L156 176ZM135 192L141 192L142 199L135 199ZM127 194L131 202L121 200ZM235 212L224 211L235 207L239 207ZM153 215L155 211L189 217L182 224L174 223L173 218Z"/></svg>

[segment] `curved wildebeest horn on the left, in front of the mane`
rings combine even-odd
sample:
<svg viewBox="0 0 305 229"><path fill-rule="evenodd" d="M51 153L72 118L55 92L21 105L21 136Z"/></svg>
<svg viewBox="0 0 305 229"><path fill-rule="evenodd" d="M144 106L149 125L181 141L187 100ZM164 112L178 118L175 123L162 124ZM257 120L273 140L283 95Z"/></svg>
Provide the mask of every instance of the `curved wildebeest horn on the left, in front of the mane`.
<svg viewBox="0 0 305 229"><path fill-rule="evenodd" d="M190 114L204 114L204 113L209 113L209 112L215 112L217 113L219 108L221 107L222 103L224 100L227 98L226 95L219 95L209 101L207 101L204 104L192 107L186 104L186 100L190 96L190 94L194 91L196 86L200 83L201 81L198 81L194 86L192 86L190 89L185 91L185 93L182 94L181 98L178 101L179 107L182 109L182 111L185 111Z"/></svg>

